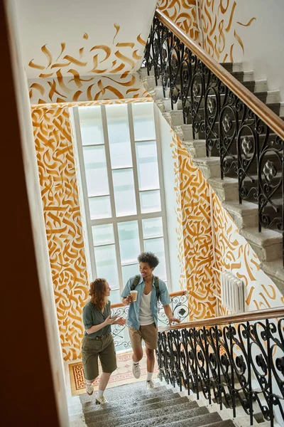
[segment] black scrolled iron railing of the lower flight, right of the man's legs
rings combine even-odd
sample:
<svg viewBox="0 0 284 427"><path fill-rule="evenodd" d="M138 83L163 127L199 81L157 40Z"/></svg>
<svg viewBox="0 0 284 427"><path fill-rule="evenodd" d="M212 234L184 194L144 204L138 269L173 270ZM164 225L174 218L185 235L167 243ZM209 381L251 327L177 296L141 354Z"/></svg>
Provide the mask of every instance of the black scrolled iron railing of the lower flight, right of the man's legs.
<svg viewBox="0 0 284 427"><path fill-rule="evenodd" d="M284 308L215 317L160 330L160 379L220 409L284 419Z"/></svg>

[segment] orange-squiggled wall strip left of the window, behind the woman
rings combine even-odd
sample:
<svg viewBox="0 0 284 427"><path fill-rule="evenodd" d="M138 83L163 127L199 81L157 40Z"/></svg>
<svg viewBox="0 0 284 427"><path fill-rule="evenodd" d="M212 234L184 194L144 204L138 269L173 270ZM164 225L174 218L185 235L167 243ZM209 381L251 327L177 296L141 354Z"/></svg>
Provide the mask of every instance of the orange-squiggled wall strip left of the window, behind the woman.
<svg viewBox="0 0 284 427"><path fill-rule="evenodd" d="M121 103L114 100L111 103ZM126 102L148 102L128 100ZM98 105L110 102L84 102ZM81 357L82 308L88 298L82 217L72 146L69 107L32 107L45 229L64 360Z"/></svg>

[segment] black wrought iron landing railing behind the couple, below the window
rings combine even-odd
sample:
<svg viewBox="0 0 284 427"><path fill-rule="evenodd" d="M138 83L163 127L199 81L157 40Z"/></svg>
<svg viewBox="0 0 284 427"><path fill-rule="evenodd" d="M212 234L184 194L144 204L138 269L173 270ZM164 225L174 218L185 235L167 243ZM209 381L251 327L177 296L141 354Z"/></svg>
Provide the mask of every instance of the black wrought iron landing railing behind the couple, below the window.
<svg viewBox="0 0 284 427"><path fill-rule="evenodd" d="M187 303L187 295L185 292L173 292L170 294L170 306L173 311L174 317L178 318L181 322L188 320L189 308ZM129 306L122 304L111 305L111 316L119 315L120 317L127 318ZM163 305L158 305L158 327L167 326L168 317L165 315ZM111 332L114 335L114 345L116 352L131 349L131 342L129 339L129 330L127 325L119 326L113 325Z"/></svg>

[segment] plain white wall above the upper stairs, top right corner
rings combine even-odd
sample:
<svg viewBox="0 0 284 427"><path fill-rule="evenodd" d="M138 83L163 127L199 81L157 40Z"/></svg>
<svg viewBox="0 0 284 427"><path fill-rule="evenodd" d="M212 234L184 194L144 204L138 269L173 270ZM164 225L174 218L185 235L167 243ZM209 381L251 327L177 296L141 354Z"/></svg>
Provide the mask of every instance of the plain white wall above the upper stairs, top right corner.
<svg viewBox="0 0 284 427"><path fill-rule="evenodd" d="M249 27L238 24L246 24L253 17L256 20ZM234 61L243 61L244 70L253 70L256 80L267 78L268 89L279 89L284 101L283 19L283 0L236 0L235 28L244 43L244 53L232 31L226 38L231 37L234 43Z"/></svg>

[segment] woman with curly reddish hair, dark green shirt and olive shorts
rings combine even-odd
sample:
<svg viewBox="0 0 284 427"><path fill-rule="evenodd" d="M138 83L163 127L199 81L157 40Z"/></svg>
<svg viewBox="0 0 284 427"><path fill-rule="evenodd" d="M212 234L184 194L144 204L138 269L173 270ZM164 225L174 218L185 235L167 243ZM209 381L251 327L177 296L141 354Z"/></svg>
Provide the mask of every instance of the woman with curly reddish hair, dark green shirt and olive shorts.
<svg viewBox="0 0 284 427"><path fill-rule="evenodd" d="M116 352L111 325L126 324L126 320L114 316L111 318L109 301L109 283L105 279L96 279L89 286L91 300L83 309L84 338L82 342L82 362L87 394L93 394L92 383L99 376L98 357L102 364L102 375L99 379L99 390L96 393L96 404L105 404L104 390L111 373L116 370Z"/></svg>

